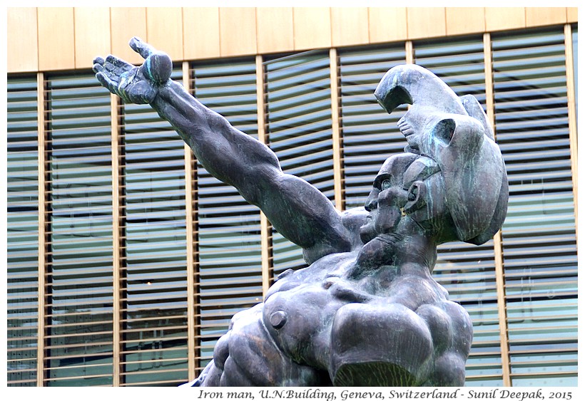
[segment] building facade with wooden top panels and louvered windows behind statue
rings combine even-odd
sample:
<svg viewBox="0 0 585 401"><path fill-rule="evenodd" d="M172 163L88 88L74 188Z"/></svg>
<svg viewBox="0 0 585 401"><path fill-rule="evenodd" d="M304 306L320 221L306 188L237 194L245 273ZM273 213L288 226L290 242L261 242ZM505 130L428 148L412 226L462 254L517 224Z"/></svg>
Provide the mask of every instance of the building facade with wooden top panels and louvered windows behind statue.
<svg viewBox="0 0 585 401"><path fill-rule="evenodd" d="M8 384L178 385L231 316L304 266L258 209L208 175L148 105L98 85L94 56L171 78L338 209L406 145L373 91L417 63L494 126L509 212L434 277L474 322L471 386L576 385L577 12L566 8L8 10Z"/></svg>

